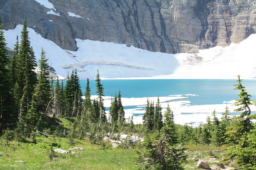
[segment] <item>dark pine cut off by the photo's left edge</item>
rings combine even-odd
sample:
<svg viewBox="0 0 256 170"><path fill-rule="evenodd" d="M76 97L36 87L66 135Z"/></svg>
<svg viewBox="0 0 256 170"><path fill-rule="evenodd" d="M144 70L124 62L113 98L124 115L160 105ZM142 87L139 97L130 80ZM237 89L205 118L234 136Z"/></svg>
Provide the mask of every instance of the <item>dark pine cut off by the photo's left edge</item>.
<svg viewBox="0 0 256 170"><path fill-rule="evenodd" d="M16 122L14 99L11 92L10 60L6 53L2 20L0 19L0 134Z"/></svg>

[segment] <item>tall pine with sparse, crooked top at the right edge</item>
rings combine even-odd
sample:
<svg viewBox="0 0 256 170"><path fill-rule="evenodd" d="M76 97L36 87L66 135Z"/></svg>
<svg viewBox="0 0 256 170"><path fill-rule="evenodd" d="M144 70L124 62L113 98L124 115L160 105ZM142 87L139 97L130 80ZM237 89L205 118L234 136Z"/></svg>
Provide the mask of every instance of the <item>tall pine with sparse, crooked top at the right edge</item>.
<svg viewBox="0 0 256 170"><path fill-rule="evenodd" d="M227 150L227 160L234 159L234 167L239 169L253 170L256 168L256 130L251 124L250 119L256 119L256 115L250 115L250 107L252 100L250 95L245 92L245 87L242 86L240 76L236 80L236 88L240 90L238 94L239 99L236 100L235 105L239 106L234 111L243 111L240 116L233 117L231 123L228 125L225 135L226 142L232 147Z"/></svg>

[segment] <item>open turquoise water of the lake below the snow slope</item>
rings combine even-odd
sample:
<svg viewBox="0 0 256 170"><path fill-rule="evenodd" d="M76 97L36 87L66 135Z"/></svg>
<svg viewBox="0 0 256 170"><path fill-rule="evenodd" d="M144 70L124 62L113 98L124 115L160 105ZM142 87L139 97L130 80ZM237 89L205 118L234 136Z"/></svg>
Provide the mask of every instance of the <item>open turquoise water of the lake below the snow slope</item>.
<svg viewBox="0 0 256 170"><path fill-rule="evenodd" d="M80 80L84 94L87 80ZM191 105L223 104L238 99L234 90L236 80L216 79L171 79L171 80L101 80L105 96L114 96L119 89L124 98L157 97L196 94L188 97ZM91 95L95 93L95 81L90 80ZM256 99L256 80L242 80L246 92Z"/></svg>

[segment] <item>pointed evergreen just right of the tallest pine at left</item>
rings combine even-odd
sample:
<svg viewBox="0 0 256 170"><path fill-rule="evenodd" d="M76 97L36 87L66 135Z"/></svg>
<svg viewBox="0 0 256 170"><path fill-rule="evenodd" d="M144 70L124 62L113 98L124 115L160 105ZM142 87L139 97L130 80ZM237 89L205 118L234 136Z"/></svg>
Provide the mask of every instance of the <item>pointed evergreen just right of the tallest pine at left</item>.
<svg viewBox="0 0 256 170"><path fill-rule="evenodd" d="M51 89L49 81L50 68L47 62L48 59L46 59L45 52L42 49L41 59L39 60L38 84L36 84L35 88L37 112L40 114L46 113L46 108L51 100Z"/></svg>

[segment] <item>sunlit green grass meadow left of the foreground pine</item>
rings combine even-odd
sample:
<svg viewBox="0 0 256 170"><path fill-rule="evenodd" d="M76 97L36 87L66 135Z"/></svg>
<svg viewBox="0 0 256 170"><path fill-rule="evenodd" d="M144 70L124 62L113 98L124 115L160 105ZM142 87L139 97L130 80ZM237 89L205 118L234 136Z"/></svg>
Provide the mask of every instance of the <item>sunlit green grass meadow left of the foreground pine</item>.
<svg viewBox="0 0 256 170"><path fill-rule="evenodd" d="M36 139L37 144L21 143L19 146L10 144L8 147L1 145L0 169L137 169L136 152L133 149L102 150L101 145L93 145L84 139L75 139L76 145L72 147L82 147L84 151L76 151L75 154L56 154L51 161L49 158L51 148L68 150L70 148L67 145L68 139L60 138L58 147L55 145L59 138L53 141L53 137L37 136ZM24 162L15 162L16 160L24 160Z"/></svg>

